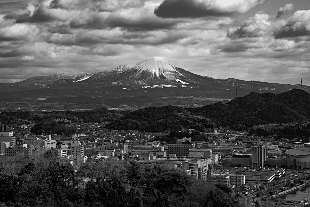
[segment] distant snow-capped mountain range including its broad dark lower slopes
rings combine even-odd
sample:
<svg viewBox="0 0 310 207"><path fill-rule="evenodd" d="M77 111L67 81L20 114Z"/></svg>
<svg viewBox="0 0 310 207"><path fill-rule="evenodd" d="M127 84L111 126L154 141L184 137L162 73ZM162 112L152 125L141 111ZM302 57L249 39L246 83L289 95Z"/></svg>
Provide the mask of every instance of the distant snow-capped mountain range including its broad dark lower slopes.
<svg viewBox="0 0 310 207"><path fill-rule="evenodd" d="M24 110L194 106L231 100L236 97L236 89L237 96L242 96L252 91L281 93L299 87L203 77L155 57L132 67L121 64L111 71L73 76L58 73L0 83L0 103L4 105L0 110L11 110L13 106ZM303 90L310 91L310 87L304 86Z"/></svg>

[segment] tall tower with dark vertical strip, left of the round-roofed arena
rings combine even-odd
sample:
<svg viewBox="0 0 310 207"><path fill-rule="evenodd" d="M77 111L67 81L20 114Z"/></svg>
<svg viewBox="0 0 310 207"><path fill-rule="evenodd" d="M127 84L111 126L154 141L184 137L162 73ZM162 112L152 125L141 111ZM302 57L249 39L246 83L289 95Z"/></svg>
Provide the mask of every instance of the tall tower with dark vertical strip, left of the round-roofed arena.
<svg viewBox="0 0 310 207"><path fill-rule="evenodd" d="M257 143L256 145L251 146L252 151L252 164L255 167L264 167L266 161L266 144Z"/></svg>

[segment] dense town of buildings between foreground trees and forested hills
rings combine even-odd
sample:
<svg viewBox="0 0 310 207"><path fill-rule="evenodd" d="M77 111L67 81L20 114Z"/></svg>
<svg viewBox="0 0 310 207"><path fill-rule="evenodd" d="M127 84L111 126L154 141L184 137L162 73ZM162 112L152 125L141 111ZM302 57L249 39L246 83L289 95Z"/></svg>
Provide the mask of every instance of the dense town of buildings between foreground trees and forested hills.
<svg viewBox="0 0 310 207"><path fill-rule="evenodd" d="M246 192L281 178L286 168L310 169L310 143L275 141L275 136L254 137L246 131L231 132L221 127L207 129L205 141L184 137L164 142L156 140L163 133L106 130L105 123L74 125L77 131L70 136L36 136L29 131L32 126L23 125L13 132L0 124L0 156L30 155L56 148L62 159L77 165L87 159L109 158L135 160L146 167L170 165L196 179Z"/></svg>

